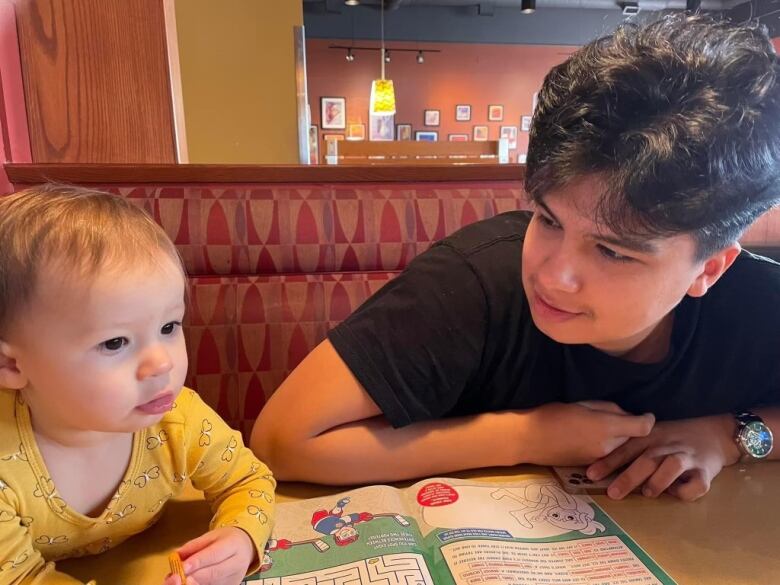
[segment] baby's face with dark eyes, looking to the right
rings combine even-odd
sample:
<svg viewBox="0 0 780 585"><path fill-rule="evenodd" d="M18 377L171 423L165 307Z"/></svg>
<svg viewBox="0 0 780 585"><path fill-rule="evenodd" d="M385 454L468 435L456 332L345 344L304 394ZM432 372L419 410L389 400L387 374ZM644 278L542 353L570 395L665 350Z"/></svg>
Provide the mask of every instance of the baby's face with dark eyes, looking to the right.
<svg viewBox="0 0 780 585"><path fill-rule="evenodd" d="M163 254L90 282L49 268L11 329L39 424L132 432L171 409L187 372L184 282Z"/></svg>

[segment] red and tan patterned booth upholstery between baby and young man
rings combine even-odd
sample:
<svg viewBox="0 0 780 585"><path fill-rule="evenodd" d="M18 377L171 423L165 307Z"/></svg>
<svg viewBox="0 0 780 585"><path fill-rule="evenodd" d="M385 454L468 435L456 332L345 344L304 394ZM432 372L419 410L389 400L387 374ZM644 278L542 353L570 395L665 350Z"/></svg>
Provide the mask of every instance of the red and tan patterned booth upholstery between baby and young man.
<svg viewBox="0 0 780 585"><path fill-rule="evenodd" d="M520 181L95 187L146 209L178 246L187 384L245 437L328 329L416 254L524 205Z"/></svg>

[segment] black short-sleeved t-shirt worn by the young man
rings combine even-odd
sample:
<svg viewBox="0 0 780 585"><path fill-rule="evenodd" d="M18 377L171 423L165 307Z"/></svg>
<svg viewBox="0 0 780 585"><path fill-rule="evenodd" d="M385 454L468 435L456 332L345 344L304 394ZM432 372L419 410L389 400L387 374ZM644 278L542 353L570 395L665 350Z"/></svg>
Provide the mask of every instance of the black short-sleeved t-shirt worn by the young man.
<svg viewBox="0 0 780 585"><path fill-rule="evenodd" d="M330 332L393 426L579 400L659 420L780 404L780 264L742 252L675 308L666 358L637 364L536 328L520 275L530 217L464 227Z"/></svg>

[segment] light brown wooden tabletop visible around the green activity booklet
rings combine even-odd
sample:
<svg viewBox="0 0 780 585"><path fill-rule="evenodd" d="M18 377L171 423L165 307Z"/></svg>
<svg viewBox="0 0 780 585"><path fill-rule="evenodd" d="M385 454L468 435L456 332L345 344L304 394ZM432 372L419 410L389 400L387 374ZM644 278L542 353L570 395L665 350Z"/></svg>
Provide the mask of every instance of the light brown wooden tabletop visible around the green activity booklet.
<svg viewBox="0 0 780 585"><path fill-rule="evenodd" d="M483 469L449 477L511 481L542 468ZM413 482L408 482L408 485ZM345 488L281 484L280 502L324 496ZM698 502L670 496L594 498L679 585L780 583L780 462L733 466ZM99 585L155 585L168 572L167 554L206 530L210 512L190 490L168 504L160 522L118 548L96 557L62 561L60 570Z"/></svg>

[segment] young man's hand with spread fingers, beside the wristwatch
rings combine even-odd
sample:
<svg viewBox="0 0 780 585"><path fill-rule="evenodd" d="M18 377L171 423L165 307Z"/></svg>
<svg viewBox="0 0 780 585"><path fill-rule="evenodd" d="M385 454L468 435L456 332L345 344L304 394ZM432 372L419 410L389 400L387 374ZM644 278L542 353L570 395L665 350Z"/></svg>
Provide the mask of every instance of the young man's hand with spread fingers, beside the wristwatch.
<svg viewBox="0 0 780 585"><path fill-rule="evenodd" d="M588 468L592 480L628 465L607 489L620 499L636 487L656 497L663 492L685 501L706 494L713 478L739 460L734 417L707 416L656 423L647 437L631 439Z"/></svg>

